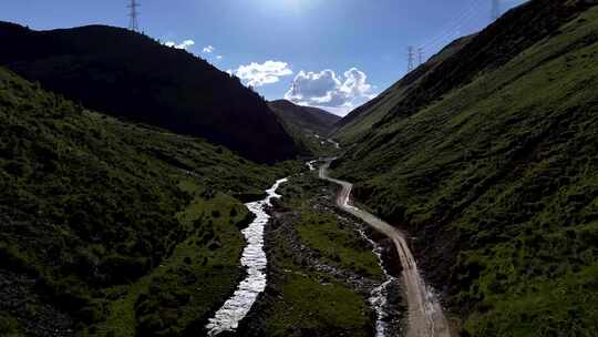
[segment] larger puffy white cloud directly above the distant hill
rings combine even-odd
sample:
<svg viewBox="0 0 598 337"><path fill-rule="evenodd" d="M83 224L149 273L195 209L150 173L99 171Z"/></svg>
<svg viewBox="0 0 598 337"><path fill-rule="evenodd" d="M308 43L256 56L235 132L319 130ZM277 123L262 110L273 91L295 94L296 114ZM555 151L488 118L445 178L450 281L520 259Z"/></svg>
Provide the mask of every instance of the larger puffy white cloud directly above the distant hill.
<svg viewBox="0 0 598 337"><path fill-rule="evenodd" d="M330 69L320 72L300 71L285 95L297 104L323 106L339 112L348 112L355 104L374 96L373 86L368 84L368 75L357 68L351 68L342 75Z"/></svg>

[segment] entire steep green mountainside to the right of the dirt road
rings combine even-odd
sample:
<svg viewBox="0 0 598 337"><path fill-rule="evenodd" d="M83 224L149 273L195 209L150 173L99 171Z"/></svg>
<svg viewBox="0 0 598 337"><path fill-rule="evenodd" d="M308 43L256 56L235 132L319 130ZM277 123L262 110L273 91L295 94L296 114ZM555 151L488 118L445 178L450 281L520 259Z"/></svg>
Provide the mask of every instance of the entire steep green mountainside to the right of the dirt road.
<svg viewBox="0 0 598 337"><path fill-rule="evenodd" d="M597 64L598 8L530 1L337 163L359 200L417 237L466 336L598 330Z"/></svg>

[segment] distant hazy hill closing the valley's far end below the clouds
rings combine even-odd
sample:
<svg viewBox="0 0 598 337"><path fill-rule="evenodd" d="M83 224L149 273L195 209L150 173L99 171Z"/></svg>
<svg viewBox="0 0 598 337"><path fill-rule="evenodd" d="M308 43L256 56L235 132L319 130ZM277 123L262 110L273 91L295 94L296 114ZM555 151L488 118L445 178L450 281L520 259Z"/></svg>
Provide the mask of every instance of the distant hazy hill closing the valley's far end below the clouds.
<svg viewBox="0 0 598 337"><path fill-rule="evenodd" d="M328 136L340 116L324 110L297 105L286 100L269 102L268 105L292 135L307 155L328 155L336 145L328 142Z"/></svg>

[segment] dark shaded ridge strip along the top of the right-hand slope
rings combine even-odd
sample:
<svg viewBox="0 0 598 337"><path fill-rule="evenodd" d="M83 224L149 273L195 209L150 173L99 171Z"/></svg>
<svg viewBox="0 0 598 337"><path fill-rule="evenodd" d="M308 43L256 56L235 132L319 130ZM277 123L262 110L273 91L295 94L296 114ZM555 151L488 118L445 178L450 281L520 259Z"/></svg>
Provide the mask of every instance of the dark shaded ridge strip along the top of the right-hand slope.
<svg viewBox="0 0 598 337"><path fill-rule="evenodd" d="M495 71L537 41L557 33L588 0L528 1L507 12L478 34L447 45L429 62L409 73L378 99L343 119L336 135L343 143L367 137L369 129L416 113L451 90L470 83L485 71Z"/></svg>

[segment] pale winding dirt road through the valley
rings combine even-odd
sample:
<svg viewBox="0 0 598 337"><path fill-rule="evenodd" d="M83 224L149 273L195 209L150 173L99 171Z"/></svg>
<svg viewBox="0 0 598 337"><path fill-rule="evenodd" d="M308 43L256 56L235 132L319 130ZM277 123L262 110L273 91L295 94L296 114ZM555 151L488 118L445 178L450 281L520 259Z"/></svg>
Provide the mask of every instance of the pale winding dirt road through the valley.
<svg viewBox="0 0 598 337"><path fill-rule="evenodd" d="M403 267L402 276L405 285L406 300L409 306L408 337L450 337L448 324L442 312L436 296L425 286L420 276L415 258L409 248L405 235L398 228L389 225L377 216L351 205L351 190L353 185L328 176L328 167L331 161L327 161L320 167L320 178L342 186L337 205L343 211L363 219L375 231L390 237L396 246Z"/></svg>

